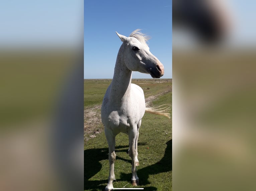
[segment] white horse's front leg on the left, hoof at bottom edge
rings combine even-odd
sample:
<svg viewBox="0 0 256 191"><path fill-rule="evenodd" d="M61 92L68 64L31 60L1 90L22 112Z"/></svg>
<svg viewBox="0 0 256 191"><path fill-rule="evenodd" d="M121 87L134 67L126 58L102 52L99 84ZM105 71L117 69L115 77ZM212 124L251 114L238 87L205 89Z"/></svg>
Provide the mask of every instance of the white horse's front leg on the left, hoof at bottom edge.
<svg viewBox="0 0 256 191"><path fill-rule="evenodd" d="M115 153L115 144L116 144L116 136L113 134L113 132L107 130L105 128L105 136L108 141L109 146L109 177L108 177L108 184L105 188L105 191L112 190L113 187L113 180L115 180L115 173L114 173L114 164L116 160L116 153Z"/></svg>

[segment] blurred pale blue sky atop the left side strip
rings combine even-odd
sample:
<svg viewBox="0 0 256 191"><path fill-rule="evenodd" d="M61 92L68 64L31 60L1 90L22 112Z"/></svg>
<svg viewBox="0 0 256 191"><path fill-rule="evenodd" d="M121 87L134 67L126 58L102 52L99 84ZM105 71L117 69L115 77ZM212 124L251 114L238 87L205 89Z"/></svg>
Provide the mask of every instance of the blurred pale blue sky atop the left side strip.
<svg viewBox="0 0 256 191"><path fill-rule="evenodd" d="M83 1L12 0L0 3L0 46L77 46Z"/></svg>

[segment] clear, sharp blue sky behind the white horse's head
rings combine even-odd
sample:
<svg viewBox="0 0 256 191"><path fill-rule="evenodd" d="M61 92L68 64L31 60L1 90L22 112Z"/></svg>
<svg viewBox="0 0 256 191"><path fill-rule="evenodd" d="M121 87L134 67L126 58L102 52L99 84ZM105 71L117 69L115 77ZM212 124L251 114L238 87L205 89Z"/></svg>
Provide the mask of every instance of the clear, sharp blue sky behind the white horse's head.
<svg viewBox="0 0 256 191"><path fill-rule="evenodd" d="M112 79L118 50L116 35L135 29L149 35L150 52L164 65L162 78L172 78L172 1L84 1L84 78ZM151 78L133 72L132 78Z"/></svg>

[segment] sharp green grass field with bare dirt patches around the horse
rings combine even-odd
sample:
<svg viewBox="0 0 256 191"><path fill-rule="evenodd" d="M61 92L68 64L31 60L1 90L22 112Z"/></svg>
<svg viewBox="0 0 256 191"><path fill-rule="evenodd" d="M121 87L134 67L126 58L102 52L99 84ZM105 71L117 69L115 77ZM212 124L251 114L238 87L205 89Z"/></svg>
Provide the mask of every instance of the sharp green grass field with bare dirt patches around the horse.
<svg viewBox="0 0 256 191"><path fill-rule="evenodd" d="M104 190L109 175L108 144L100 119L100 106L111 80L84 81L84 190ZM171 104L171 79L132 80L139 85L151 105ZM164 116L145 113L138 139L137 175L140 185L148 191L172 190L172 123ZM116 136L116 162L114 188L131 188L131 159L128 136Z"/></svg>

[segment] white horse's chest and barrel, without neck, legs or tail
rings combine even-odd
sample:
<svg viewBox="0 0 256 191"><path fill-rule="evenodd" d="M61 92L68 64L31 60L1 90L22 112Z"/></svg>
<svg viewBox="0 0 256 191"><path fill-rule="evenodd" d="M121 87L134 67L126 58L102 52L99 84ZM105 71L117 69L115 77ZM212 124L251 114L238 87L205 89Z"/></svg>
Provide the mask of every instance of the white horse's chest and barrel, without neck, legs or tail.
<svg viewBox="0 0 256 191"><path fill-rule="evenodd" d="M110 85L110 88L111 89ZM105 95L102 106L102 122L106 129L113 132L128 134L130 128L141 120L145 113L145 98L143 90L135 84L131 84L129 93L119 99ZM106 93L108 93L107 90Z"/></svg>

